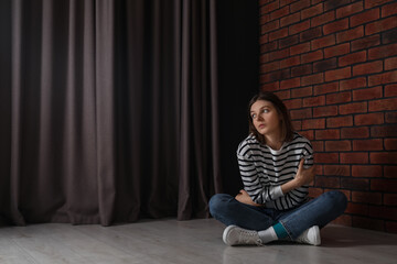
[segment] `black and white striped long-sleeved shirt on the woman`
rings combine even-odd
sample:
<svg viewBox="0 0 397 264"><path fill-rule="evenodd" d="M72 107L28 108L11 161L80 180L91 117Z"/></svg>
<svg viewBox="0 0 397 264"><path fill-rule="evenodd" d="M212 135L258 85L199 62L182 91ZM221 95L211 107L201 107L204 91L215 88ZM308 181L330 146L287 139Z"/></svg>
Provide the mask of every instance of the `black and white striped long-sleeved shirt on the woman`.
<svg viewBox="0 0 397 264"><path fill-rule="evenodd" d="M291 142L275 151L250 134L238 145L237 158L244 189L253 201L277 210L288 210L305 201L309 186L287 194L281 190L281 185L297 175L301 158L304 158L303 168L313 165L313 148L305 138L294 133Z"/></svg>

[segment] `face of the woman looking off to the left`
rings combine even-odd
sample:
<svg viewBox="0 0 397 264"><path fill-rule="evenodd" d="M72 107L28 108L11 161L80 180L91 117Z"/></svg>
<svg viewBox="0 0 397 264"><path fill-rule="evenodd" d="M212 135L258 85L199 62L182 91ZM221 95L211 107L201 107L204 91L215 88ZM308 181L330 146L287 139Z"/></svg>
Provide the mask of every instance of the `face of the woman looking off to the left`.
<svg viewBox="0 0 397 264"><path fill-rule="evenodd" d="M269 101L258 100L250 107L250 117L256 130L265 135L280 135L281 117Z"/></svg>

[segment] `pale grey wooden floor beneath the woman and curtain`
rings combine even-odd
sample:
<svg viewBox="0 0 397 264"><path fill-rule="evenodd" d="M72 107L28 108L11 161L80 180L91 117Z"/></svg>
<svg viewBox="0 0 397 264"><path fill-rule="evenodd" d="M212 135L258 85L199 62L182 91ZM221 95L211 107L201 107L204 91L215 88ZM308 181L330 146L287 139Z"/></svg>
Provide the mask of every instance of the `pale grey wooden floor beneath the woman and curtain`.
<svg viewBox="0 0 397 264"><path fill-rule="evenodd" d="M227 246L213 219L0 228L0 263L397 263L397 234L329 226L322 245Z"/></svg>

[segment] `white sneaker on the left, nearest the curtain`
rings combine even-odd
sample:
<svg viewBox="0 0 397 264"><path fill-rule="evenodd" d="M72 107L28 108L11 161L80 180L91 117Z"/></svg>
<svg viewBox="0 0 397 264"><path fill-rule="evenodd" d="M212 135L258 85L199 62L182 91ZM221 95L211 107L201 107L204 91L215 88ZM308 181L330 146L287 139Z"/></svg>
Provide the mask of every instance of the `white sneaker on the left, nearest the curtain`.
<svg viewBox="0 0 397 264"><path fill-rule="evenodd" d="M262 245L257 231L228 226L223 233L223 241L227 245L256 244Z"/></svg>

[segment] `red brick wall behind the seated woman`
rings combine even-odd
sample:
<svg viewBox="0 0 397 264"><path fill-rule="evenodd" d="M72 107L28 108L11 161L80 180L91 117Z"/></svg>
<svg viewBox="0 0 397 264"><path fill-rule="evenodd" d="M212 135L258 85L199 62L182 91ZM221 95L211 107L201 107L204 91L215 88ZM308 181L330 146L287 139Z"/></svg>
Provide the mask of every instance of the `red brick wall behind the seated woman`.
<svg viewBox="0 0 397 264"><path fill-rule="evenodd" d="M259 0L260 89L315 151L315 197L340 189L336 223L397 233L397 2Z"/></svg>

